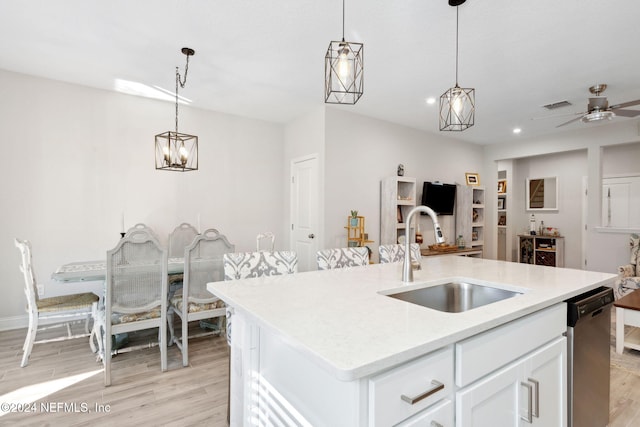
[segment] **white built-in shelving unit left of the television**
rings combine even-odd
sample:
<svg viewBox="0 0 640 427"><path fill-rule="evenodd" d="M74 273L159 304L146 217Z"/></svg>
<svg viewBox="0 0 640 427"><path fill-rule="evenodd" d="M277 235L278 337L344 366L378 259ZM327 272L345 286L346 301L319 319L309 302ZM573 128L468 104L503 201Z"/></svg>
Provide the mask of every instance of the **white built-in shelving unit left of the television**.
<svg viewBox="0 0 640 427"><path fill-rule="evenodd" d="M416 179L390 176L380 183L380 244L398 243L405 234L405 218L416 206Z"/></svg>

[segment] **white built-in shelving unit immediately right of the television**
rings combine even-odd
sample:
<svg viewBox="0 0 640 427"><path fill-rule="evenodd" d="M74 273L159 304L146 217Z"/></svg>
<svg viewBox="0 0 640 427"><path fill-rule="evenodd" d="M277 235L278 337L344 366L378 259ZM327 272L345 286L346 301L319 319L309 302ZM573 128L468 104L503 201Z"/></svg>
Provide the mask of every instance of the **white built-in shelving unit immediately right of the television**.
<svg viewBox="0 0 640 427"><path fill-rule="evenodd" d="M459 185L456 192L456 236L462 235L465 246L484 247L485 189Z"/></svg>

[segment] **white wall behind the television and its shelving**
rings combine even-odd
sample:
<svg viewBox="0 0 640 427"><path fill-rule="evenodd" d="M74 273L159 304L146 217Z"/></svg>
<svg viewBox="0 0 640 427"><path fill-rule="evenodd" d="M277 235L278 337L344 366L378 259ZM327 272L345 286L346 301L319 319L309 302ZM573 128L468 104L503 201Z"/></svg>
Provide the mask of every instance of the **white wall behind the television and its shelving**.
<svg viewBox="0 0 640 427"><path fill-rule="evenodd" d="M482 147L440 135L362 116L346 109L326 109L325 246L346 245L347 216L352 209L366 218L366 232L377 260L380 243L380 181L396 175L417 180L417 200L424 181L465 183L465 172L481 172ZM482 178L481 178L482 179ZM481 182L482 184L482 182ZM449 242L455 241L455 218L439 218ZM423 246L434 243L431 220L420 217Z"/></svg>

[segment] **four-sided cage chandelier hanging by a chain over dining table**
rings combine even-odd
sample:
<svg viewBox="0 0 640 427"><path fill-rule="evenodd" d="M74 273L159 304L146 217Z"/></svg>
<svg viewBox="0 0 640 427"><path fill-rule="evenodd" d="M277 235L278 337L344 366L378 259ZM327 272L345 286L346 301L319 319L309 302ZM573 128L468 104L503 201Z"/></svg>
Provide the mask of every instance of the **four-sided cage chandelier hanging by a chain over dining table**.
<svg viewBox="0 0 640 427"><path fill-rule="evenodd" d="M184 88L189 72L189 57L195 54L193 49L182 48L187 56L184 80L176 67L176 128L156 135L156 169L188 172L198 170L198 137L178 132L178 87Z"/></svg>

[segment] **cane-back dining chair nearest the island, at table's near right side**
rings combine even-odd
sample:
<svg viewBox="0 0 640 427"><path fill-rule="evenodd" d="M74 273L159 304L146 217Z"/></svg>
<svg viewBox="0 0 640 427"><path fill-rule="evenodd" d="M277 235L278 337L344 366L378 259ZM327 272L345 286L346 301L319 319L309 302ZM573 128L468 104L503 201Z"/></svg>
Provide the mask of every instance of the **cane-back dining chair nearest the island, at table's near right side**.
<svg viewBox="0 0 640 427"><path fill-rule="evenodd" d="M169 331L170 342L175 342L182 352L182 365L189 365L189 339L222 333L222 318L225 316L224 303L206 289L208 282L224 278L222 257L233 252L235 246L217 230L205 230L184 250L184 282L182 290L170 299ZM173 328L173 314L182 320L182 336L176 338ZM217 331L203 332L189 336L188 322L218 318Z"/></svg>

